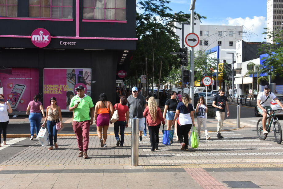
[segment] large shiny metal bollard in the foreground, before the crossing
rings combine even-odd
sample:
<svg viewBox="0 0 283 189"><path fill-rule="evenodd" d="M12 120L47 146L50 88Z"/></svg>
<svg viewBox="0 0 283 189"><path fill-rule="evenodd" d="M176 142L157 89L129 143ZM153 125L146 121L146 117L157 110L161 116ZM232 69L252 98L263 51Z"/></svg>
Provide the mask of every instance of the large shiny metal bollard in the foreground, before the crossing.
<svg viewBox="0 0 283 189"><path fill-rule="evenodd" d="M132 126L132 166L138 166L138 118L131 119Z"/></svg>

